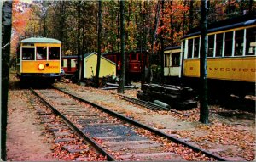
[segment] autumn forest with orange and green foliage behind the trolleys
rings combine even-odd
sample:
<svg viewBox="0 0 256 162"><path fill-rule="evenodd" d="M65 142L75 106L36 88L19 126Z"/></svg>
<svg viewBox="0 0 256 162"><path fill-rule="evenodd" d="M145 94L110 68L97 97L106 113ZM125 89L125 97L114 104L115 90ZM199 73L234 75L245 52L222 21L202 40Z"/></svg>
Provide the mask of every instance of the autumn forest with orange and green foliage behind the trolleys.
<svg viewBox="0 0 256 162"><path fill-rule="evenodd" d="M208 24L256 10L253 0L211 0L207 7ZM119 1L102 1L102 53L120 51L119 11ZM20 39L31 36L60 40L62 55L97 51L97 14L98 1L15 0L11 59ZM180 45L181 37L200 25L200 14L201 1L125 1L125 51L147 50L160 64L160 50Z"/></svg>

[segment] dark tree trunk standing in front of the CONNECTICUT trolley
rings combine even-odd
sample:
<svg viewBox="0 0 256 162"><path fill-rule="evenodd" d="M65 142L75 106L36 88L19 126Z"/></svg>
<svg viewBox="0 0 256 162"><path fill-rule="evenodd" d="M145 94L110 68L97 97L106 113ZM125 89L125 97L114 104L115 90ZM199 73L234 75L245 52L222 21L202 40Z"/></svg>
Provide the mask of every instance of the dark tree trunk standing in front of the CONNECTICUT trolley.
<svg viewBox="0 0 256 162"><path fill-rule="evenodd" d="M201 0L201 56L200 56L200 119L201 123L208 124L208 97L207 97L207 0Z"/></svg>

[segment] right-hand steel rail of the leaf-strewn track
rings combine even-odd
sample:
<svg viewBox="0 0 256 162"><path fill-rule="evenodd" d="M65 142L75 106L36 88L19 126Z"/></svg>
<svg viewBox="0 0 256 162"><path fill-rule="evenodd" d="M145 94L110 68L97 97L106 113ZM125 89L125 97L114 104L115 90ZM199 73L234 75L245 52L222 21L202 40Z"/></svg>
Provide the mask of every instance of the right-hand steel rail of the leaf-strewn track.
<svg viewBox="0 0 256 162"><path fill-rule="evenodd" d="M62 90L62 89L60 89L58 87L55 87L55 88L57 90L61 91L61 92L64 92L65 94L67 94L67 95L69 95L69 96L71 96L73 98L78 99L81 102L89 103L92 106L96 107L97 109L101 109L102 111L104 111L104 112L106 112L106 113L108 113L110 115L117 116L119 119L125 120L126 122L129 122L129 123L131 123L131 124L133 124L135 126L141 127L143 129L146 129L146 130L151 131L151 132L154 132L156 135L158 135L160 137L166 137L167 139L169 139L169 140L171 140L173 142L177 142L179 144L183 144L184 146L187 146L188 148L191 148L191 149L193 149L196 152L201 152L202 154L206 154L208 157L212 157L214 159L217 159L218 161L227 161L227 159L224 159L224 158L222 158L222 157L220 157L220 156L218 156L216 154L212 154L212 153L208 152L207 150L205 150L203 148L198 148L198 147L196 147L194 145L191 145L188 142L184 142L183 140L178 139L177 137L172 137L172 136L166 134L164 131L160 131L160 130L155 129L154 127L144 125L143 123L140 123L137 120L132 120L131 118L128 118L128 117L126 117L124 115L120 115L120 114L118 114L118 113L116 113L116 112L114 112L114 111L112 111L110 109L104 108L104 107L102 107L102 106L100 106L100 105L98 105L96 103L91 103L90 101L85 100L84 98L79 98L79 97L77 97L77 96L75 96L73 94L65 92L64 90Z"/></svg>

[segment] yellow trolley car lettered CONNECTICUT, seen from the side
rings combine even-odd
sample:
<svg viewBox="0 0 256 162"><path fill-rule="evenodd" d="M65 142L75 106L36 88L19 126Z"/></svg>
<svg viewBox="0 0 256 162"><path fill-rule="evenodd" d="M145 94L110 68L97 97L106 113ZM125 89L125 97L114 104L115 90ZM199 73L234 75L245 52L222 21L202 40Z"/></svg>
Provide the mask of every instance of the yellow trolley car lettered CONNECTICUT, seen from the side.
<svg viewBox="0 0 256 162"><path fill-rule="evenodd" d="M255 94L256 18L246 17L209 25L207 31L207 79L210 93ZM201 32L182 39L183 82L198 88Z"/></svg>

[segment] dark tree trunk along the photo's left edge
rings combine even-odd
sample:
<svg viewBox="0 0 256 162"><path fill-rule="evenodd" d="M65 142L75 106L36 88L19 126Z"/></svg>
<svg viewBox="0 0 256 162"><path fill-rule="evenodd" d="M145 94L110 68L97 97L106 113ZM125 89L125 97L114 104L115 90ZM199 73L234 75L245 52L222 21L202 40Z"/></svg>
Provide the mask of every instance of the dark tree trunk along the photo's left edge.
<svg viewBox="0 0 256 162"><path fill-rule="evenodd" d="M3 4L3 9L2 9ZM6 127L7 127L7 109L8 109L8 89L9 89L9 53L10 53L10 36L12 29L12 1L5 1L0 3L1 10L1 25L0 29L3 40L0 42L0 59L2 66L0 66L0 89L1 95L1 159L6 161ZM2 12L3 11L3 12ZM3 29L3 31L2 31ZM3 44L2 44L3 43ZM2 58L1 58L2 57ZM2 68L3 67L3 68Z"/></svg>

